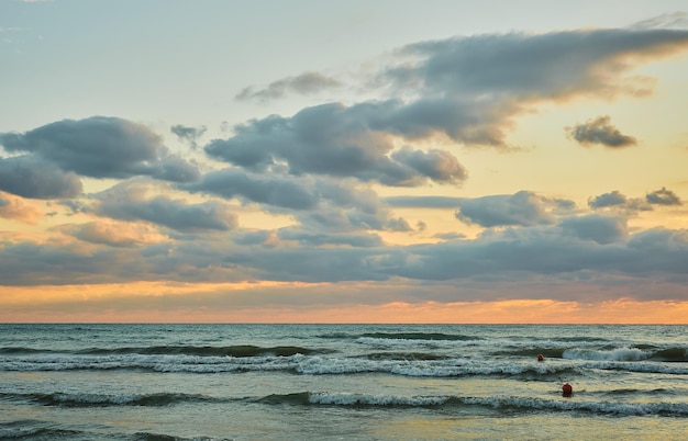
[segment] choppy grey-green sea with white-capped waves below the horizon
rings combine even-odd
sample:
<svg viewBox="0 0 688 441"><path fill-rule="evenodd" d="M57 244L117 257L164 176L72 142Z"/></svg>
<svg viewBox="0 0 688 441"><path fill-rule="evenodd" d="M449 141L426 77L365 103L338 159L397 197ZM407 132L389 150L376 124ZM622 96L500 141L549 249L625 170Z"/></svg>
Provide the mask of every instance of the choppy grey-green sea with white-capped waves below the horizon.
<svg viewBox="0 0 688 441"><path fill-rule="evenodd" d="M687 331L5 324L0 439L681 440Z"/></svg>

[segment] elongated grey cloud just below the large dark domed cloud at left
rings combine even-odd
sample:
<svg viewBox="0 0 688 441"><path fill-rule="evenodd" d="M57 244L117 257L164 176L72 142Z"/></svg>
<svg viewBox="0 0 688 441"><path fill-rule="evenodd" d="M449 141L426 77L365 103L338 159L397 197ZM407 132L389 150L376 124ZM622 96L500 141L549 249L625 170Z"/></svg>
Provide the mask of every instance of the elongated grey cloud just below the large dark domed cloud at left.
<svg viewBox="0 0 688 441"><path fill-rule="evenodd" d="M145 197L145 191L120 184L95 195L93 212L120 220L146 220L182 233L226 231L237 225L230 207L217 202L188 204L165 196Z"/></svg>

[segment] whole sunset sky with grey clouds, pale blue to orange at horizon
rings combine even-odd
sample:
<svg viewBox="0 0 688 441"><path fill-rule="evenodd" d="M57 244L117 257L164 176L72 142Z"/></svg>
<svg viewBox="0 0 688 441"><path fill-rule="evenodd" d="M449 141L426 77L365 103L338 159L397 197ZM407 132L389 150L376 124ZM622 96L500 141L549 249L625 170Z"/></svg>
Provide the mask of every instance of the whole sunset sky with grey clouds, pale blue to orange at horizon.
<svg viewBox="0 0 688 441"><path fill-rule="evenodd" d="M0 321L688 323L685 1L0 0Z"/></svg>

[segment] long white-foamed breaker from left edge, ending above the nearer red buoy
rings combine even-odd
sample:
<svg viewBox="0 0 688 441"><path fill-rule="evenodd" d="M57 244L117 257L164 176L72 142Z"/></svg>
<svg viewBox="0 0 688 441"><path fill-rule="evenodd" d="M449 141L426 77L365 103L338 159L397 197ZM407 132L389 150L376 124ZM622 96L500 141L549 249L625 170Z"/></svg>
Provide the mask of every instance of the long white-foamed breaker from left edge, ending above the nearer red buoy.
<svg viewBox="0 0 688 441"><path fill-rule="evenodd" d="M78 371L137 370L182 373L243 373L282 371L301 375L388 373L403 376L462 375L552 375L575 369L572 364L514 362L510 360L471 360L436 357L423 352L374 352L351 358L303 355L288 357L198 357L198 355L51 355L1 358L0 371Z"/></svg>

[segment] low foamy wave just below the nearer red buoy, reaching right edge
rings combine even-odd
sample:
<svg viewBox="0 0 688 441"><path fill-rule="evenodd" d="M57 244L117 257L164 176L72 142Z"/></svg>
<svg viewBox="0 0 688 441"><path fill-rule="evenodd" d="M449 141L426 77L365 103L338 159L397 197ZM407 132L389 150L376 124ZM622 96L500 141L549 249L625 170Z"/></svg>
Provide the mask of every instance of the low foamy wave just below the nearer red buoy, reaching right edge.
<svg viewBox="0 0 688 441"><path fill-rule="evenodd" d="M274 394L257 399L268 405L300 406L343 406L343 407L481 407L500 414L521 414L524 411L575 411L614 416L688 416L685 403L619 403L582 402L575 398L530 398L515 396L393 396L349 393Z"/></svg>

